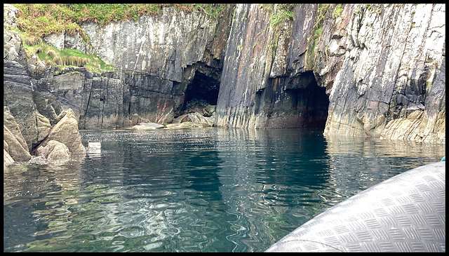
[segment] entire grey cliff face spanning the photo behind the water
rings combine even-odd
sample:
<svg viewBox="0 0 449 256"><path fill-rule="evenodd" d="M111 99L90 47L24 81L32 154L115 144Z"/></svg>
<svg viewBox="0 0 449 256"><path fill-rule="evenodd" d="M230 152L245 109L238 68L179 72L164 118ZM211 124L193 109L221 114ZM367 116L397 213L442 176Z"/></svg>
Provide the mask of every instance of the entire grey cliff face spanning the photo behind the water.
<svg viewBox="0 0 449 256"><path fill-rule="evenodd" d="M293 18L276 24L286 11ZM216 126L445 142L445 4L229 4L218 19L164 7L81 27L91 45L44 41L98 54L116 72L5 62L5 90L31 90L23 97L52 124L62 107L81 129L130 126L136 115L168 123L202 99L217 105Z"/></svg>

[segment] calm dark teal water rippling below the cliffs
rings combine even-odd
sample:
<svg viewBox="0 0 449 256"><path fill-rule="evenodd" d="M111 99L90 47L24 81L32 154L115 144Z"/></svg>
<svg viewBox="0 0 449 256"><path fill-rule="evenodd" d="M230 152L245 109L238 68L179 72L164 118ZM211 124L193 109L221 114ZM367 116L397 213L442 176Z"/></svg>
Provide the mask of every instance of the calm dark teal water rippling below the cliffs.
<svg viewBox="0 0 449 256"><path fill-rule="evenodd" d="M441 144L320 130L85 130L58 166L4 170L5 252L261 252Z"/></svg>

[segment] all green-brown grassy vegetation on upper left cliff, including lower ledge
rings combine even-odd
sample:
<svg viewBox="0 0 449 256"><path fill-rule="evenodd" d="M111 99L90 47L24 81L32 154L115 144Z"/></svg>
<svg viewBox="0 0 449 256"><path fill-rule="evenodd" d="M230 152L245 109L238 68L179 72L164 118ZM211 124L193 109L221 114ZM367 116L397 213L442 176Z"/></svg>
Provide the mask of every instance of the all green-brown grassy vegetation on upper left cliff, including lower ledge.
<svg viewBox="0 0 449 256"><path fill-rule="evenodd" d="M86 67L91 72L112 70L98 56L79 50L58 50L43 42L43 37L52 33L78 34L88 45L89 36L81 28L82 22L107 25L111 22L133 20L138 22L143 15L157 15L165 6L174 6L177 11L201 11L217 18L222 4L13 4L19 9L17 28L29 58L37 55L46 65Z"/></svg>

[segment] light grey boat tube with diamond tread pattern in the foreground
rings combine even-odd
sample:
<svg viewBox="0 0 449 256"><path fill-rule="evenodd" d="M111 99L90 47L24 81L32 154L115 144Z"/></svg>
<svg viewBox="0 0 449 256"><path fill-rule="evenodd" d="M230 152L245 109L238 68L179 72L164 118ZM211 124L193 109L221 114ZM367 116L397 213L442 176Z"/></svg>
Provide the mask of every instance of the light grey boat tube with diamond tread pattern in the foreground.
<svg viewBox="0 0 449 256"><path fill-rule="evenodd" d="M267 252L445 252L445 161L338 203Z"/></svg>

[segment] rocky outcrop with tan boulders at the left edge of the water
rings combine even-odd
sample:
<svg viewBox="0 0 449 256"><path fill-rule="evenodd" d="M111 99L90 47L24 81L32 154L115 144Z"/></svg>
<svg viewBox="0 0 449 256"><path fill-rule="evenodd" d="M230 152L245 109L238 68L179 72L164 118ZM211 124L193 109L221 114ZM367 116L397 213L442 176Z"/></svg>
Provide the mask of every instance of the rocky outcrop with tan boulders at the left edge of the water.
<svg viewBox="0 0 449 256"><path fill-rule="evenodd" d="M20 37L8 29L4 30L4 52L4 166L32 160L36 152L48 161L85 154L74 112L60 109L60 103L48 105L54 99L32 83Z"/></svg>

